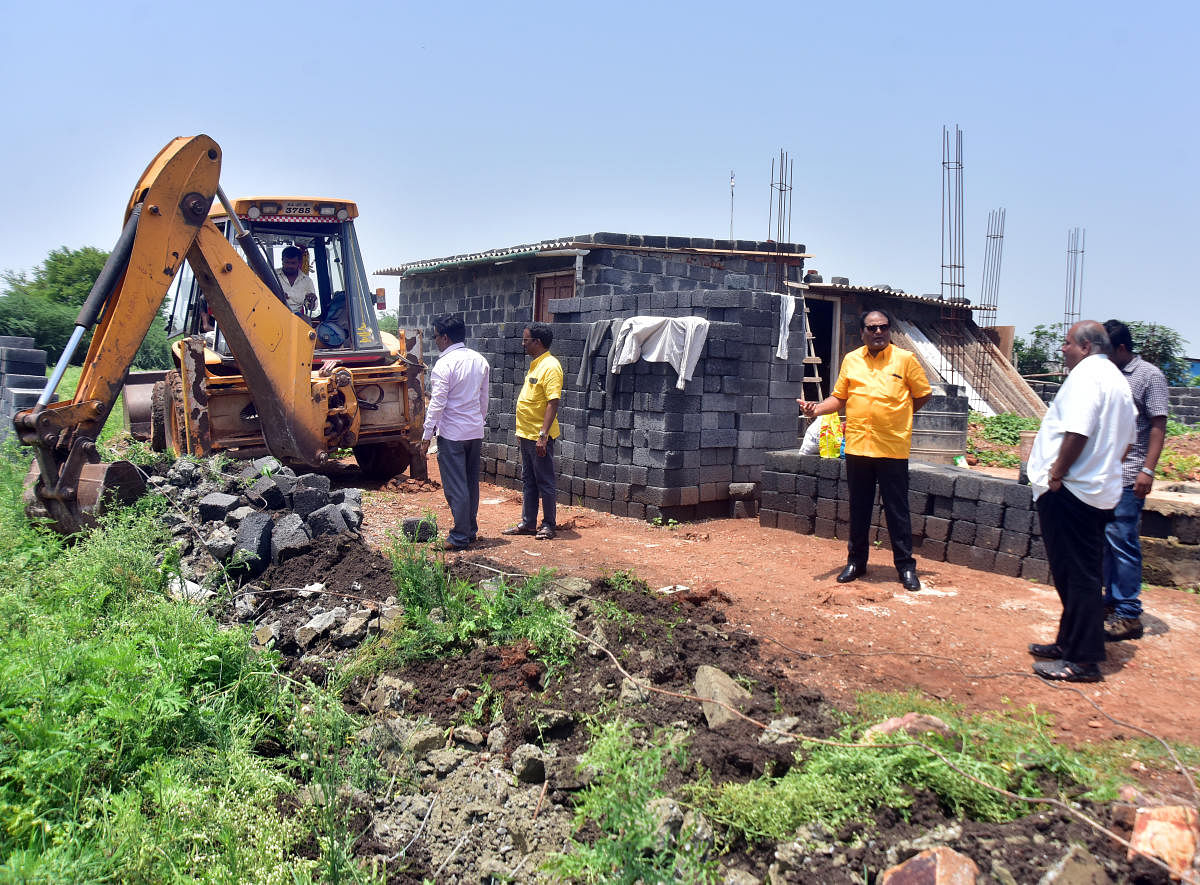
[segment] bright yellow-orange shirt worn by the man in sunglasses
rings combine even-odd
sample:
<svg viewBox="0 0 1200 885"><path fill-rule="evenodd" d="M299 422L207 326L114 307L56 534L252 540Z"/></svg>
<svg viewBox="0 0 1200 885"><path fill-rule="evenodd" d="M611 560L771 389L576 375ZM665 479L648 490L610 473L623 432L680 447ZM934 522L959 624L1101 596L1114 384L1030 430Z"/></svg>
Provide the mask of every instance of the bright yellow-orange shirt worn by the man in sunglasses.
<svg viewBox="0 0 1200 885"><path fill-rule="evenodd" d="M907 458L912 401L931 392L917 357L894 344L875 356L865 347L846 354L833 387L846 401L846 454Z"/></svg>

